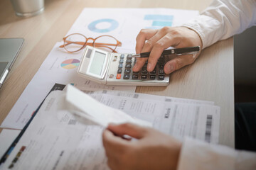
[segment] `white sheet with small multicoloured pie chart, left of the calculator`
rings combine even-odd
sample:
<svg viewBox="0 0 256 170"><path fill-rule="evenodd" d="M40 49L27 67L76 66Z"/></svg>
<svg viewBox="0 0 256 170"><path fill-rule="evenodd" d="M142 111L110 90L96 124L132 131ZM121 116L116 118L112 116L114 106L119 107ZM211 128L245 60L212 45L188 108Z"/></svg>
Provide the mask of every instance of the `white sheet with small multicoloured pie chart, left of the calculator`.
<svg viewBox="0 0 256 170"><path fill-rule="evenodd" d="M135 91L136 86L105 86L82 78L77 73L76 63L70 64L70 68L74 67L73 69L65 69L63 62L69 60L79 62L82 53L69 54L63 52L58 48L60 45L62 45L61 42L55 44L53 50L6 116L1 128L22 129L55 83L74 84L85 89Z"/></svg>

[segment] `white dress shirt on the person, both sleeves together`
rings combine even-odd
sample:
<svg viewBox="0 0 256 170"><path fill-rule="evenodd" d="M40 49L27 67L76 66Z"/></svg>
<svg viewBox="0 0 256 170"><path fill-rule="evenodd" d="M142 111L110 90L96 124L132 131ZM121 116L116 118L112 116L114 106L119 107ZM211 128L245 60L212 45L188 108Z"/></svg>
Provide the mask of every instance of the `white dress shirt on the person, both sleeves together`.
<svg viewBox="0 0 256 170"><path fill-rule="evenodd" d="M256 0L215 0L200 16L183 26L195 30L201 37L203 48L206 48L256 26ZM186 138L178 170L188 169L256 170L256 153Z"/></svg>

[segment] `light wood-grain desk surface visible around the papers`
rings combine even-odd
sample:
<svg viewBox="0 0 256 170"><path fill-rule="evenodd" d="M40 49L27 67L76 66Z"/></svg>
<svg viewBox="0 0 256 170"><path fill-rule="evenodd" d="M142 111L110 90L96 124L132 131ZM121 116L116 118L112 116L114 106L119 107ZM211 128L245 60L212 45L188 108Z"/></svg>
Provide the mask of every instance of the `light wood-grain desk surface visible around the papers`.
<svg viewBox="0 0 256 170"><path fill-rule="evenodd" d="M21 53L0 89L0 123L36 74L55 42L62 40L85 7L180 8L202 11L211 0L79 1L46 0L32 18L15 16L9 0L0 1L0 38L24 38ZM33 61L33 64L31 64ZM28 67L29 66L29 67ZM194 64L171 74L167 87L138 86L137 92L214 101L220 106L220 144L234 147L233 38L206 48Z"/></svg>

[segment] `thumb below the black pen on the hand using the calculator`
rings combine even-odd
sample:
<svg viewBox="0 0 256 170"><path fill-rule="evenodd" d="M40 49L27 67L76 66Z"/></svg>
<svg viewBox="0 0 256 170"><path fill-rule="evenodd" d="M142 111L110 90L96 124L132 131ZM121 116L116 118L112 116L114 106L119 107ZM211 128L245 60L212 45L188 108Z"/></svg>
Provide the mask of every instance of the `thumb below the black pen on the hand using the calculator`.
<svg viewBox="0 0 256 170"><path fill-rule="evenodd" d="M178 69L181 69L182 67L192 64L196 60L197 55L181 55L173 60L170 60L169 62L166 62L164 65L164 72L166 74L170 74L171 72L174 72Z"/></svg>

